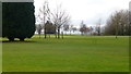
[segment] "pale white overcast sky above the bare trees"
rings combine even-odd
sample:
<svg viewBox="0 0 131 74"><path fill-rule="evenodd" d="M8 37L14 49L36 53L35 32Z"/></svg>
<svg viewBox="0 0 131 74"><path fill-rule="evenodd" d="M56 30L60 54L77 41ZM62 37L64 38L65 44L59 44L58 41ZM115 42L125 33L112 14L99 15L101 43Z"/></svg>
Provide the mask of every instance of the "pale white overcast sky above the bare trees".
<svg viewBox="0 0 131 74"><path fill-rule="evenodd" d="M35 0L36 13L44 0ZM130 0L48 0L49 7L55 9L58 4L71 15L72 24L80 25L81 21L87 26L95 25L98 18L103 24L109 15L121 9L129 9Z"/></svg>

